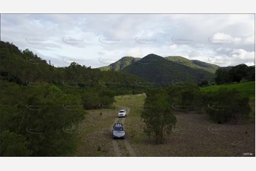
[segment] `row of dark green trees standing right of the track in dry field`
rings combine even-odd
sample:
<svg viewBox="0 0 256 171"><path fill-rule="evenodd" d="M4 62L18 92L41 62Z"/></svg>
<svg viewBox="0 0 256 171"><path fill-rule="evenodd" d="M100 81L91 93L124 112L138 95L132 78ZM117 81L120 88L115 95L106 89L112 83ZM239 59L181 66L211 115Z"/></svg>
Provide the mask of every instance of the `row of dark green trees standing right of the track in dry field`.
<svg viewBox="0 0 256 171"><path fill-rule="evenodd" d="M174 131L177 112L197 112L208 114L218 124L231 120L237 124L248 119L251 108L250 98L240 95L238 90L220 88L214 92L202 92L194 83L185 83L167 88L150 88L146 92L141 118L145 123L145 134L163 143L168 134Z"/></svg>

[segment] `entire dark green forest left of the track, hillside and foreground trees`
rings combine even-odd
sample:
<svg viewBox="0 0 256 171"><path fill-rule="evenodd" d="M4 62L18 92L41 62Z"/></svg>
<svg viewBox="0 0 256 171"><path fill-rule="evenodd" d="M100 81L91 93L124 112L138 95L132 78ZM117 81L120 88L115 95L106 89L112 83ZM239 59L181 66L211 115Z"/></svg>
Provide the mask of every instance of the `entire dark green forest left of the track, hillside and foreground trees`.
<svg viewBox="0 0 256 171"><path fill-rule="evenodd" d="M145 90L137 82L146 81L128 73L76 63L56 68L29 49L0 46L1 156L68 155L87 110L113 110L114 96Z"/></svg>

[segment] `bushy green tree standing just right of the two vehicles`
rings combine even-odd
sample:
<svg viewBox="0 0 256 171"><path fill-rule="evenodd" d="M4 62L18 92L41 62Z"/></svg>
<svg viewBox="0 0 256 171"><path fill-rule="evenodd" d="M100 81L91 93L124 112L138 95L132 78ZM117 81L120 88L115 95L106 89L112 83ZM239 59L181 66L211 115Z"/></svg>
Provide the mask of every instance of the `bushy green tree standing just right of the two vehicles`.
<svg viewBox="0 0 256 171"><path fill-rule="evenodd" d="M165 136L172 133L172 129L177 123L177 118L172 114L168 102L168 94L163 89L148 90L145 99L144 111L141 114L145 122L145 134L153 136L155 142L163 143Z"/></svg>

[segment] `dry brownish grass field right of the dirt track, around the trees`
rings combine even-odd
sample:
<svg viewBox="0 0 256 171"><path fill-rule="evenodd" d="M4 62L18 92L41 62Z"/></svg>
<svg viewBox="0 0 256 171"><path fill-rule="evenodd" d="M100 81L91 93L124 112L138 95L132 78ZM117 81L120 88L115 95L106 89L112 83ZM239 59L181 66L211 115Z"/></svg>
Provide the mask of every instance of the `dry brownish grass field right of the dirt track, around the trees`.
<svg viewBox="0 0 256 171"><path fill-rule="evenodd" d="M117 102L126 106L133 104L129 106L126 128L137 156L255 156L255 123L220 125L211 122L206 114L193 112L185 114L174 111L176 130L166 138L164 144L155 145L141 128L141 110L135 104L141 106L142 101L143 97L140 96Z"/></svg>

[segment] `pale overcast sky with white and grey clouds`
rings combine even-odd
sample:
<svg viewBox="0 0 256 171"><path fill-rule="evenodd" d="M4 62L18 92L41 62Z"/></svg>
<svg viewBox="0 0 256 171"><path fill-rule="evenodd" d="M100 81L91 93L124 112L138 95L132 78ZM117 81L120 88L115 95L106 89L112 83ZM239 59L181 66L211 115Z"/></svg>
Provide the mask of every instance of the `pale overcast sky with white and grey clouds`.
<svg viewBox="0 0 256 171"><path fill-rule="evenodd" d="M54 66L147 54L255 65L255 16L245 14L1 14L1 40Z"/></svg>

